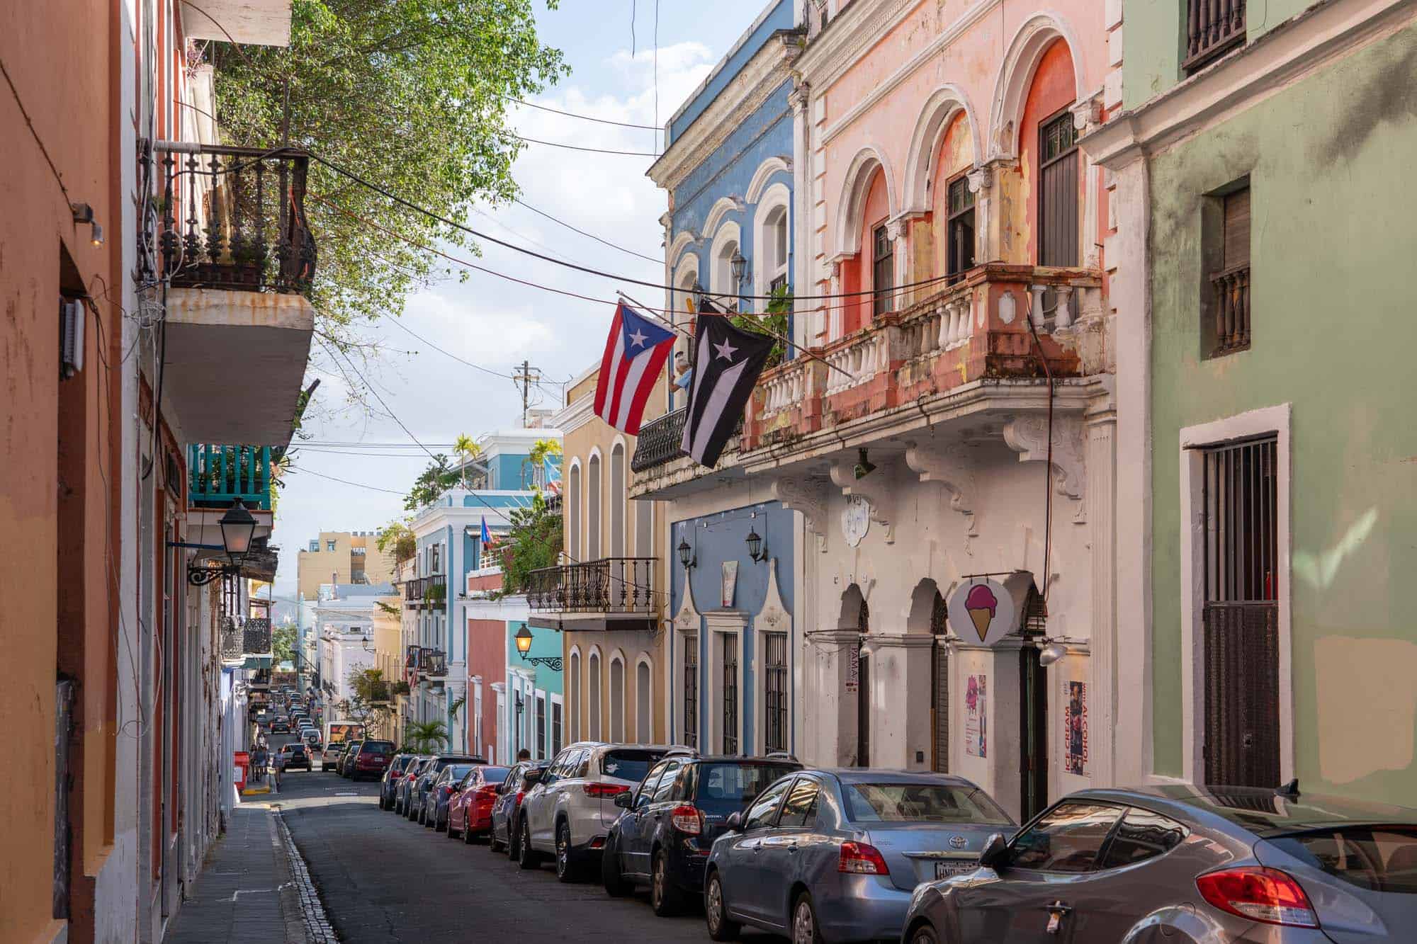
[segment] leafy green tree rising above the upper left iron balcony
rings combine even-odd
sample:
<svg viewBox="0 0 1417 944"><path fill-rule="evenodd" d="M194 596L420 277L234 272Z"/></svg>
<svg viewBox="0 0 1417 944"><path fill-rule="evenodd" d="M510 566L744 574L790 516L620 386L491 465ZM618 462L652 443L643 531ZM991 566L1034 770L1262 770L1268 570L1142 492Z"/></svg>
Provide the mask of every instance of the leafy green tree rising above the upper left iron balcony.
<svg viewBox="0 0 1417 944"><path fill-rule="evenodd" d="M289 115L292 146L449 220L516 196L523 145L507 106L567 72L537 37L533 0L295 0L288 47L214 43L211 60L230 143L279 145ZM336 337L400 313L428 279L436 257L410 241L468 242L317 162L307 190L319 197L306 204L319 247L312 300Z"/></svg>

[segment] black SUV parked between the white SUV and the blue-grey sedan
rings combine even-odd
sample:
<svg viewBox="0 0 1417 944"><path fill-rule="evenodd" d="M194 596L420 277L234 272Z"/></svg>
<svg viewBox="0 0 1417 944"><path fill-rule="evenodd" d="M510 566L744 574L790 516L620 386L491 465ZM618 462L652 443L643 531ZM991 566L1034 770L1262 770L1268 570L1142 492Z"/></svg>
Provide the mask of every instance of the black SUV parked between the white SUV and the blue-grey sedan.
<svg viewBox="0 0 1417 944"><path fill-rule="evenodd" d="M799 770L778 757L666 757L633 792L615 797L623 812L605 841L605 892L618 897L648 883L655 914L677 913L703 893L704 863L728 816Z"/></svg>

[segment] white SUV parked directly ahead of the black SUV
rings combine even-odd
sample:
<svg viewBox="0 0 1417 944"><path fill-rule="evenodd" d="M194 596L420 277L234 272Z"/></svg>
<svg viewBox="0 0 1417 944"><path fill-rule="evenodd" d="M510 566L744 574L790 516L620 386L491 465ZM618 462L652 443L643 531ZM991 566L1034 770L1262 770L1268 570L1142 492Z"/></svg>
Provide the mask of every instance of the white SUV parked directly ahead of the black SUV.
<svg viewBox="0 0 1417 944"><path fill-rule="evenodd" d="M521 801L517 828L521 867L534 869L543 856L551 855L557 877L575 880L584 865L598 859L619 819L615 795L633 790L672 750L691 754L687 747L598 741L571 744L557 754Z"/></svg>

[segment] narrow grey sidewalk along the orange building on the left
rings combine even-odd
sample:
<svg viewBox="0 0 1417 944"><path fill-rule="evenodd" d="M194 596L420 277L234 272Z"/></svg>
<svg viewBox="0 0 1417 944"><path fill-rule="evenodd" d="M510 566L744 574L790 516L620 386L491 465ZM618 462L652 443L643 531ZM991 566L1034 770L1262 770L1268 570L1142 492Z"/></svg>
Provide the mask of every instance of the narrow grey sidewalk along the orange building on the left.
<svg viewBox="0 0 1417 944"><path fill-rule="evenodd" d="M207 856L191 886L191 897L177 910L166 940L170 944L312 944L323 940L319 933L307 933L302 899L313 900L315 893L303 863L300 875L292 875L289 842L289 833L269 805L238 804L231 811L227 835ZM317 901L315 907L319 909Z"/></svg>

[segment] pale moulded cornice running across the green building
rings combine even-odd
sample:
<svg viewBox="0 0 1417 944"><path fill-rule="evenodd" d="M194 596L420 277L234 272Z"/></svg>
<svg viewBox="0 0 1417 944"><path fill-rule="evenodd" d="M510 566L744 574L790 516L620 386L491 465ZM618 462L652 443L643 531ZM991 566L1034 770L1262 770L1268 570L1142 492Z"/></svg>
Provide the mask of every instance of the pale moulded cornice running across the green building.
<svg viewBox="0 0 1417 944"><path fill-rule="evenodd" d="M1417 0L1325 0L1078 143L1118 170L1243 112L1417 18Z"/></svg>

